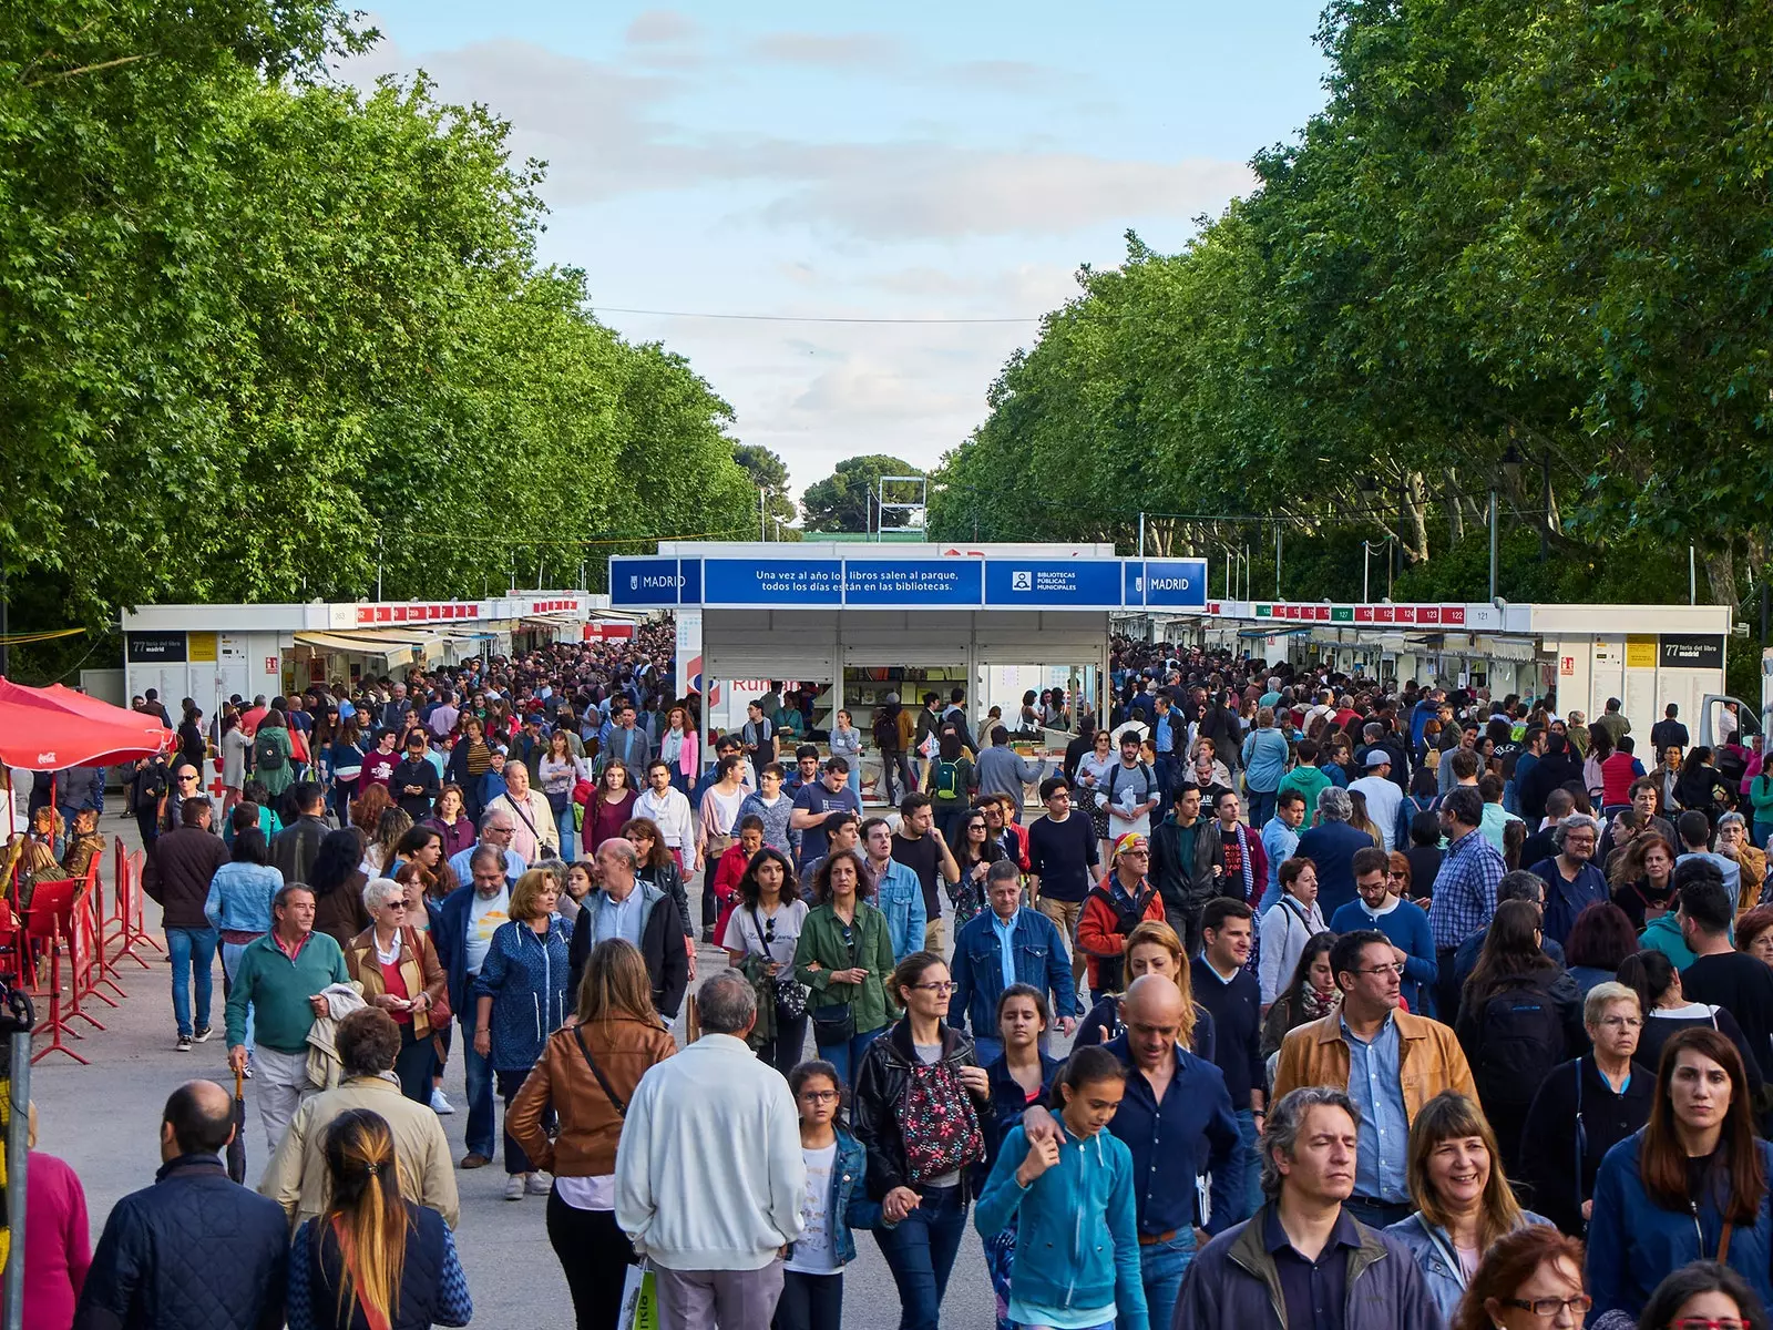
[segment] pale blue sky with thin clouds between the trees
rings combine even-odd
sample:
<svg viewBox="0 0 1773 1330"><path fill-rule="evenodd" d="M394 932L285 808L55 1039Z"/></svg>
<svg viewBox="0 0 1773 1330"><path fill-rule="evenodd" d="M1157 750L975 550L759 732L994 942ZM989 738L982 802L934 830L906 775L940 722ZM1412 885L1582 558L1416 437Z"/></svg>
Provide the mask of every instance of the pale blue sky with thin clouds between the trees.
<svg viewBox="0 0 1773 1330"><path fill-rule="evenodd" d="M383 0L340 73L507 119L548 163L543 261L800 493L856 454L934 466L1080 266L1245 193L1323 105L1319 4Z"/></svg>

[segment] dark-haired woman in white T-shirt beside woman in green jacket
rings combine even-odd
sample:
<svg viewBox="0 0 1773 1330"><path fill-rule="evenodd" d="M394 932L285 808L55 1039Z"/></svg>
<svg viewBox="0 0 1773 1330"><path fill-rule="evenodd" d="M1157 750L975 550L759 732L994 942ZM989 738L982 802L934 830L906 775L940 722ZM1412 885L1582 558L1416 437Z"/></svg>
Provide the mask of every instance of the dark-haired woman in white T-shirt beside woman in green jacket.
<svg viewBox="0 0 1773 1330"><path fill-rule="evenodd" d="M798 991L798 1002L782 1000L787 984L800 990L794 949L805 922L807 903L800 899L794 865L780 849L764 846L739 878L738 903L720 945L757 988L757 1027L752 1030L757 1057L784 1076L800 1066L807 1043L805 993Z"/></svg>

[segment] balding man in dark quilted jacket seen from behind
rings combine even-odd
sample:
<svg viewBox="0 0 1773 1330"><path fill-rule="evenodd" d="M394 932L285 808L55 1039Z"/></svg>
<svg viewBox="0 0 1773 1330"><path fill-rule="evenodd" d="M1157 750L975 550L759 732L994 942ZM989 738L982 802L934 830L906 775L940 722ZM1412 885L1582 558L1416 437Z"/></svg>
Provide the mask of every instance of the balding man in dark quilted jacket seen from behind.
<svg viewBox="0 0 1773 1330"><path fill-rule="evenodd" d="M154 1185L105 1222L74 1330L277 1330L289 1277L284 1208L232 1183L220 1153L234 1101L215 1082L172 1092Z"/></svg>

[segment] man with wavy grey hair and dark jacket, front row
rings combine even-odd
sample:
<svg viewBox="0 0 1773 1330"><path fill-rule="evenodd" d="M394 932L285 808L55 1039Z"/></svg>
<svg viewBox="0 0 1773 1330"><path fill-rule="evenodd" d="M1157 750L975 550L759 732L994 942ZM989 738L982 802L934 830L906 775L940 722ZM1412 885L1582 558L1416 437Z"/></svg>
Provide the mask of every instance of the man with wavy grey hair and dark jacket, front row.
<svg viewBox="0 0 1773 1330"><path fill-rule="evenodd" d="M1346 1330L1441 1325L1410 1252L1342 1208L1355 1192L1358 1130L1342 1091L1301 1085L1280 1098L1262 1130L1262 1208L1195 1256L1174 1325L1310 1326L1324 1325L1328 1309Z"/></svg>

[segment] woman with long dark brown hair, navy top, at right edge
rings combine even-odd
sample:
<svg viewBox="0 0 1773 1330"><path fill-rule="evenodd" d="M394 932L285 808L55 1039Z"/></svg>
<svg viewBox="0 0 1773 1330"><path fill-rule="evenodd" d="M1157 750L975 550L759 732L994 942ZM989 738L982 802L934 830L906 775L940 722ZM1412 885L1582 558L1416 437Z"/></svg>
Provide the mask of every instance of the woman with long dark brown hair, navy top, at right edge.
<svg viewBox="0 0 1773 1330"><path fill-rule="evenodd" d="M1663 1044L1651 1121L1608 1151L1589 1220L1589 1291L1599 1312L1642 1316L1690 1261L1736 1270L1773 1300L1768 1254L1773 1146L1755 1138L1743 1057L1704 1027Z"/></svg>

